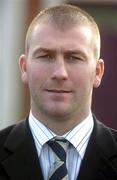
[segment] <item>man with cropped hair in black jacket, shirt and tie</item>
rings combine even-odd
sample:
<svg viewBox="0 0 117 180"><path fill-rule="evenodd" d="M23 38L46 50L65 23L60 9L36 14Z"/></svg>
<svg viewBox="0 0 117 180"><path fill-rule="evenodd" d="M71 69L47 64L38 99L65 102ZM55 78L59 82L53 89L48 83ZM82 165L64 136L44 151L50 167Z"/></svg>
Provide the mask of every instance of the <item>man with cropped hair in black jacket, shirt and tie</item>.
<svg viewBox="0 0 117 180"><path fill-rule="evenodd" d="M19 64L31 110L0 132L0 180L116 180L117 132L91 112L104 72L93 18L71 5L43 10Z"/></svg>

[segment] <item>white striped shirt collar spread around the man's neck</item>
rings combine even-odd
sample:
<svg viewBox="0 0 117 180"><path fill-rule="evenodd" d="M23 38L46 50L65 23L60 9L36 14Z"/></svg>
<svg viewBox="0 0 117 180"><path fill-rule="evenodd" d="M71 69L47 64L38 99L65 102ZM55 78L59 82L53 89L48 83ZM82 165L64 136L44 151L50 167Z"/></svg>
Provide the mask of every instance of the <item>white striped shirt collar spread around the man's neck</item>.
<svg viewBox="0 0 117 180"><path fill-rule="evenodd" d="M34 140L40 144L40 151L42 146L47 143L47 141L59 136L52 132L48 127L37 120L32 112L29 115L29 126L33 134ZM72 130L60 136L67 139L79 152L81 157L83 157L86 146L84 144L88 143L91 132L93 130L94 122L92 113L88 115L80 124L75 126Z"/></svg>

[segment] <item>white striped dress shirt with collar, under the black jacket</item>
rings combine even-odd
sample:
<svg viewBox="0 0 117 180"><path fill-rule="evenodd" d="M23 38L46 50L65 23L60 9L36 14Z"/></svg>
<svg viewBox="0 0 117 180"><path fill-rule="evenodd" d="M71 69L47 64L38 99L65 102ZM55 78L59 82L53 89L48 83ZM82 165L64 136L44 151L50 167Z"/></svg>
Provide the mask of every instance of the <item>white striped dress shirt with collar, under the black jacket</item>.
<svg viewBox="0 0 117 180"><path fill-rule="evenodd" d="M86 119L63 136L53 133L37 120L31 112L29 115L29 126L34 137L44 180L48 179L49 169L55 160L54 153L48 146L47 141L55 137L63 137L70 142L67 151L66 166L69 180L76 180L94 126L92 114L90 113Z"/></svg>

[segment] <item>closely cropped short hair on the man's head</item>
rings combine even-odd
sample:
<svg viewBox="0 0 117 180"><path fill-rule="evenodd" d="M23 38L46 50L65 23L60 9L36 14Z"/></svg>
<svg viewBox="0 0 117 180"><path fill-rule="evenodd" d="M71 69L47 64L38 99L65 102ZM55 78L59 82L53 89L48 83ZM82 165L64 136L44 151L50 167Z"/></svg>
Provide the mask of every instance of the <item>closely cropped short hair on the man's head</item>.
<svg viewBox="0 0 117 180"><path fill-rule="evenodd" d="M92 45L94 49L94 56L96 59L100 56L100 33L98 26L94 19L85 11L80 9L79 7L72 6L72 5L60 5L54 6L48 9L41 11L32 21L29 26L27 36L26 36L26 43L25 43L25 50L28 53L30 43L31 43L31 36L36 25L40 24L52 24L54 28L59 29L60 31L65 31L67 29L71 29L72 27L76 26L88 26L89 29L92 31ZM87 36L88 36L87 32Z"/></svg>

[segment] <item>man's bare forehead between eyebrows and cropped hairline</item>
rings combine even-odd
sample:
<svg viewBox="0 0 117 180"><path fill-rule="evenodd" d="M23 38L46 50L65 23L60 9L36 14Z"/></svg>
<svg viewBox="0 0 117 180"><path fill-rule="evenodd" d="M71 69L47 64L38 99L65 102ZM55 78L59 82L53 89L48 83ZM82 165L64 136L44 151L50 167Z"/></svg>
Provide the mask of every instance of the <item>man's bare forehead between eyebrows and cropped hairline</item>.
<svg viewBox="0 0 117 180"><path fill-rule="evenodd" d="M90 46L92 32L88 26L77 25L64 31L52 24L37 24L33 30L30 46L67 46L83 44Z"/></svg>

